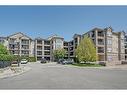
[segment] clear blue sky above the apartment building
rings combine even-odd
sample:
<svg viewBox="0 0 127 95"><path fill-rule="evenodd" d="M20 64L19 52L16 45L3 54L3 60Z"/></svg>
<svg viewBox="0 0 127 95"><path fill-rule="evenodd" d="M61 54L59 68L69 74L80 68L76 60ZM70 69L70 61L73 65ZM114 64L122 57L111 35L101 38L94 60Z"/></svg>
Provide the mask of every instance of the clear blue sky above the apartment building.
<svg viewBox="0 0 127 95"><path fill-rule="evenodd" d="M109 26L127 31L127 6L0 6L0 36L57 34L69 41L75 33Z"/></svg>

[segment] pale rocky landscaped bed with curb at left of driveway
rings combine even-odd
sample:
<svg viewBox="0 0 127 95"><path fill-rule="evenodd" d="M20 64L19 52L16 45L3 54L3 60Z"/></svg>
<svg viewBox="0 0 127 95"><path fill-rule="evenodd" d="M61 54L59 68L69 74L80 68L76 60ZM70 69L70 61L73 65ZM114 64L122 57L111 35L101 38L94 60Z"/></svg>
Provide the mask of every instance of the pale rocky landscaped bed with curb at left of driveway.
<svg viewBox="0 0 127 95"><path fill-rule="evenodd" d="M7 78L7 77L20 75L22 73L29 71L30 69L31 68L26 66L2 68L0 69L0 78Z"/></svg>

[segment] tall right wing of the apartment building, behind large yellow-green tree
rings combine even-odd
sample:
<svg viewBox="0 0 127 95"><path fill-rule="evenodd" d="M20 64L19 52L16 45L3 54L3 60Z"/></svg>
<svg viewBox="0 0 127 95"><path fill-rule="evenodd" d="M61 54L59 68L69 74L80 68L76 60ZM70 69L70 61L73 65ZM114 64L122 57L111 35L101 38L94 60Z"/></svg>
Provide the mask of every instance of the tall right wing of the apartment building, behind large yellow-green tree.
<svg viewBox="0 0 127 95"><path fill-rule="evenodd" d="M121 64L121 61L125 60L125 51L127 51L127 49L125 50L125 33L114 32L111 27L94 28L83 35L75 34L73 40L70 41L70 57L75 57L75 49L85 35L94 42L99 62L115 65Z"/></svg>

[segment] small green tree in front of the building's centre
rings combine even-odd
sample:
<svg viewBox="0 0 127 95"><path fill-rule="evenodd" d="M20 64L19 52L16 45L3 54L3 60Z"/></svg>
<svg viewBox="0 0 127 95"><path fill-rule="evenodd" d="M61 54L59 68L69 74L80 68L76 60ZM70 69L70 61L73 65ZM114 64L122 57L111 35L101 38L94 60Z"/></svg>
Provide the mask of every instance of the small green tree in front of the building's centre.
<svg viewBox="0 0 127 95"><path fill-rule="evenodd" d="M53 55L55 57L56 60L60 59L60 58L64 58L66 54L66 50L65 49L57 49L54 50Z"/></svg>

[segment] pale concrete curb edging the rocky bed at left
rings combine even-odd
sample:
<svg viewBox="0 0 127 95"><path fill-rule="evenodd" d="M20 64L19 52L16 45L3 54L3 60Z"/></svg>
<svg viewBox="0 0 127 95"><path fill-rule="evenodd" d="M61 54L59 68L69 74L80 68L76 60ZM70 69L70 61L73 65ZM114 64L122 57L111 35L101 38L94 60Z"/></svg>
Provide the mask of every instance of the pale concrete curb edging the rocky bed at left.
<svg viewBox="0 0 127 95"><path fill-rule="evenodd" d="M0 79L9 78L9 77L13 77L13 76L23 74L23 73L29 71L31 68L30 67L22 67L22 69L23 70L21 72L18 72L18 73L8 73L8 74L5 74L5 75L1 75Z"/></svg>

